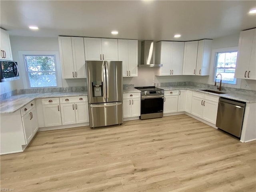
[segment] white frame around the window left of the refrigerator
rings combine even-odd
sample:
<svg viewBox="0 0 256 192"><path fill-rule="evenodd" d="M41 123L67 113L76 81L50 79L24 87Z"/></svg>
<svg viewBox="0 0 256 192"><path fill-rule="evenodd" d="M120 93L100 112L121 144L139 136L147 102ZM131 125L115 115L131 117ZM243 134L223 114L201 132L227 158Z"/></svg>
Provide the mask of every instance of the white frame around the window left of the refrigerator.
<svg viewBox="0 0 256 192"><path fill-rule="evenodd" d="M61 65L60 65L60 56L58 51L18 51L19 61L19 73L20 78L22 79L23 88L24 89L34 89L34 88L57 88L62 87L62 74L61 74ZM27 73L27 66L24 60L24 55L32 55L32 56L45 56L50 55L55 57L55 74L56 74L56 84L57 86L54 87L30 87L30 81L28 78ZM22 89L22 84L18 84L17 86Z"/></svg>

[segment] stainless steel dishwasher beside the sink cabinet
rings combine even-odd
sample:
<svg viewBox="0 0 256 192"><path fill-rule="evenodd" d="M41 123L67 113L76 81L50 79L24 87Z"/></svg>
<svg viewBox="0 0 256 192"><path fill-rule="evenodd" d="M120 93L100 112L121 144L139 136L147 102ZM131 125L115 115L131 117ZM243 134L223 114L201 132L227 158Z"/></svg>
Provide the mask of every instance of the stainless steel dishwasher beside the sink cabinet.
<svg viewBox="0 0 256 192"><path fill-rule="evenodd" d="M238 138L241 137L245 102L220 98L216 127Z"/></svg>

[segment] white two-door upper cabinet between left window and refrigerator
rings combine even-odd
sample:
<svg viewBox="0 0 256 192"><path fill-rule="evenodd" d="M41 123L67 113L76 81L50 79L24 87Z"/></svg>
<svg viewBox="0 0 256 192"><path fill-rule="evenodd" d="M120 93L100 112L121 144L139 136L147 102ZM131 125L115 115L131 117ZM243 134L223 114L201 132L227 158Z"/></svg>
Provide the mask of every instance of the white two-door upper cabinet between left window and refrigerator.
<svg viewBox="0 0 256 192"><path fill-rule="evenodd" d="M62 78L86 78L82 37L59 37Z"/></svg>

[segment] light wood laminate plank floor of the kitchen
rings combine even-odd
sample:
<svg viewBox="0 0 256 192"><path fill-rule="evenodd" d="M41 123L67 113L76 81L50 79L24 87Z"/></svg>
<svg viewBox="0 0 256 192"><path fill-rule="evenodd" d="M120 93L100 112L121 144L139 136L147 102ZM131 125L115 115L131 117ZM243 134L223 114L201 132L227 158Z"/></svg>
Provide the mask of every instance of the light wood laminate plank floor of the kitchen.
<svg viewBox="0 0 256 192"><path fill-rule="evenodd" d="M1 156L1 188L48 191L256 191L256 142L186 115L38 132Z"/></svg>

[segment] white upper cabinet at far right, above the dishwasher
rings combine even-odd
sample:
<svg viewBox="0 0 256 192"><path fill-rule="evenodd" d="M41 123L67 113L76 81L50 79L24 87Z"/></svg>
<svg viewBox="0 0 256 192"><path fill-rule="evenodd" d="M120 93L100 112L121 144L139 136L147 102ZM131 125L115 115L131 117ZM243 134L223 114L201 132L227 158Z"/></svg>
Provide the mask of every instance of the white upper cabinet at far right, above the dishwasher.
<svg viewBox="0 0 256 192"><path fill-rule="evenodd" d="M240 32L235 78L256 80L256 28Z"/></svg>

